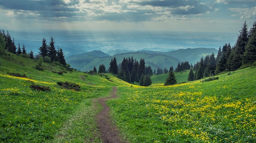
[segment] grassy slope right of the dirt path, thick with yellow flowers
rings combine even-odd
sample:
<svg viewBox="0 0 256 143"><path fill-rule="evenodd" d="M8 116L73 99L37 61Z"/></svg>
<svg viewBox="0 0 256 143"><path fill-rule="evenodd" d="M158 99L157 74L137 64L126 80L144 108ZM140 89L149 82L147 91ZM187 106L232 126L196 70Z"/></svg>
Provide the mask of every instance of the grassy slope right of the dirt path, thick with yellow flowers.
<svg viewBox="0 0 256 143"><path fill-rule="evenodd" d="M209 82L119 87L108 102L131 143L244 143L256 140L256 67Z"/></svg>

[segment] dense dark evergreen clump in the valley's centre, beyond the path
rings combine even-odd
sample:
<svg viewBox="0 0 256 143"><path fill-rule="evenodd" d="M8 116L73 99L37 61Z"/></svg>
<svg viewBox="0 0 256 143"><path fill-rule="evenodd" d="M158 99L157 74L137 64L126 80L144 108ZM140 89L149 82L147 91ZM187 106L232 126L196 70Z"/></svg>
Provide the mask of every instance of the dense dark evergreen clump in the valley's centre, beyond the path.
<svg viewBox="0 0 256 143"><path fill-rule="evenodd" d="M137 61L133 57L123 59L120 69L117 66L117 60L111 59L109 72L116 74L118 78L129 83L139 82L141 86L149 86L152 84L150 76L153 75L150 66L145 66L144 59Z"/></svg>

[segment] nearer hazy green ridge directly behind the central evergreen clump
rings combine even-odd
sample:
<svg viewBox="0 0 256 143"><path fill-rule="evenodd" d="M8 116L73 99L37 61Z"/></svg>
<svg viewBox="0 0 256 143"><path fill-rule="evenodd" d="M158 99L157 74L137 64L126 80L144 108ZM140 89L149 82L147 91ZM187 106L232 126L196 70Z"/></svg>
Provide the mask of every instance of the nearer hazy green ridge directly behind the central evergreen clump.
<svg viewBox="0 0 256 143"><path fill-rule="evenodd" d="M97 69L99 68L99 65L103 64L105 65L106 69L109 68L109 64L111 61L111 58L116 57L117 64L121 63L124 59L124 57L133 57L137 61L140 60L140 58L144 58L146 62L146 66L151 66L151 69L157 69L157 68L167 68L169 69L171 66L176 67L178 63L180 62L177 58L173 58L171 56L163 55L163 54L149 54L149 53L126 53L126 54L118 54L115 56L108 56L108 57L97 57L97 56L91 56L91 55L73 55L67 57L66 61L71 65L71 67L74 67L75 69L79 71L90 71L95 66Z"/></svg>

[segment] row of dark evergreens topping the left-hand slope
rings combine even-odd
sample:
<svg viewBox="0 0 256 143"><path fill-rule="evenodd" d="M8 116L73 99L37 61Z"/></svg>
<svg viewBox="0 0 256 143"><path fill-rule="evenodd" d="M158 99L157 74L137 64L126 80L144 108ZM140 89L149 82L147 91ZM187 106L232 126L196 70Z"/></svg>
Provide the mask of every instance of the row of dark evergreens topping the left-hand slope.
<svg viewBox="0 0 256 143"><path fill-rule="evenodd" d="M58 62L63 66L68 65L65 61L63 50L61 48L58 48L56 50L54 43L54 39L51 37L49 45L47 45L45 38L43 38L42 46L39 48L40 52L38 55L34 56L34 52L32 50L29 53L27 53L24 44L22 45L21 48L20 43L18 43L17 48L14 42L14 38L11 38L11 35L9 34L8 30L7 33L4 30L0 30L0 54L5 54L7 51L31 59L39 59L40 57L42 57L43 61L48 63Z"/></svg>

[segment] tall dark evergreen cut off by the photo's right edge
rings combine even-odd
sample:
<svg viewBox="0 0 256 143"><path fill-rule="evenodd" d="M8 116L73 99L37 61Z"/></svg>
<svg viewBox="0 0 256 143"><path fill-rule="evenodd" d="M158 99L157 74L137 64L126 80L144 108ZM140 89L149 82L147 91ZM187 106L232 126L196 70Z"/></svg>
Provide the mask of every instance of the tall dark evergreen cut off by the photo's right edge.
<svg viewBox="0 0 256 143"><path fill-rule="evenodd" d="M256 22L250 30L250 39L245 47L243 65L252 64L256 61Z"/></svg>

